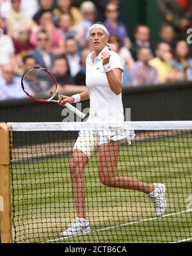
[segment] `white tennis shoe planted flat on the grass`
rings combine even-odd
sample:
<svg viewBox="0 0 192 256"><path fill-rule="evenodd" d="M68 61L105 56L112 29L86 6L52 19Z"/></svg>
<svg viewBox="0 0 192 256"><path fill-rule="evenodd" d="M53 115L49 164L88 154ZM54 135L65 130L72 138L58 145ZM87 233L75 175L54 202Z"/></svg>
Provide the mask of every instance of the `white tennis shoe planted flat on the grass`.
<svg viewBox="0 0 192 256"><path fill-rule="evenodd" d="M70 223L67 230L63 231L61 235L63 237L72 237L74 235L83 235L84 233L90 232L90 222L86 219L76 217L75 221Z"/></svg>

